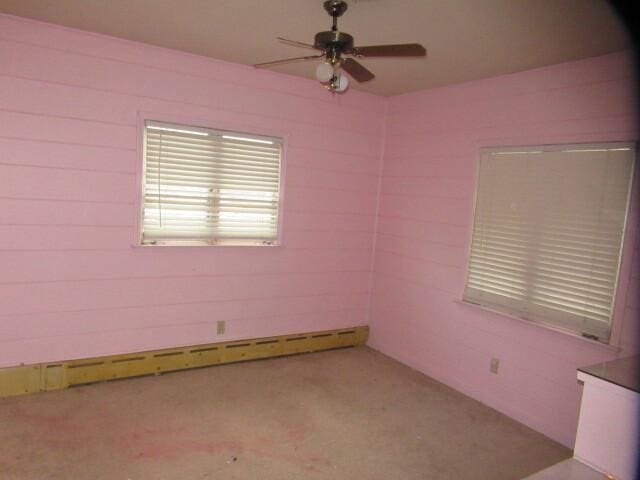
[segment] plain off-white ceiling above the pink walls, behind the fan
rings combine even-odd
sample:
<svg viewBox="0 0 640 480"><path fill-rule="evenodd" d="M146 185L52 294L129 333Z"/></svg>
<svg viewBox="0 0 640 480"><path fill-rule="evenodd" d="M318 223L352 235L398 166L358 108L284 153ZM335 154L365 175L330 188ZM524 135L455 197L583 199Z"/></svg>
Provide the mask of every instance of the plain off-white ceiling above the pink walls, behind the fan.
<svg viewBox="0 0 640 480"><path fill-rule="evenodd" d="M322 0L0 0L0 12L254 64L313 54ZM606 0L351 0L339 28L356 45L419 42L427 58L362 59L379 95L438 87L630 48ZM317 61L273 70L313 78Z"/></svg>

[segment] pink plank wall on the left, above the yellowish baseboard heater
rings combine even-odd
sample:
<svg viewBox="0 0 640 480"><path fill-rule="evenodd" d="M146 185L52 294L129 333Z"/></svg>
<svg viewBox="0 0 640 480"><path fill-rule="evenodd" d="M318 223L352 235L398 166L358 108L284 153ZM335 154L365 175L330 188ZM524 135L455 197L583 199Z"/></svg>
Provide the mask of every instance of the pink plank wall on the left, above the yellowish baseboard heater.
<svg viewBox="0 0 640 480"><path fill-rule="evenodd" d="M285 245L132 248L139 111L286 136ZM0 366L366 324L384 112L0 16Z"/></svg>

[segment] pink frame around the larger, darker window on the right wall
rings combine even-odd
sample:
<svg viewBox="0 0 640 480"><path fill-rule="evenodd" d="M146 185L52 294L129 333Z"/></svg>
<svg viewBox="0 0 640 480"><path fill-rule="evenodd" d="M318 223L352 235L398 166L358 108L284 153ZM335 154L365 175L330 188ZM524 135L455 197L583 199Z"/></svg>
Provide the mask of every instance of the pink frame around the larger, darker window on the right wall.
<svg viewBox="0 0 640 480"><path fill-rule="evenodd" d="M476 223L476 213L477 213L477 205L478 205L478 193L480 186L480 172L481 172L481 160L485 153L496 153L496 152L513 152L515 150L522 151L557 151L559 149L567 150L571 148L585 148L587 146L591 146L593 148L631 148L634 152L634 157L631 164L631 170L629 175L629 184L627 189L627 198L625 204L625 216L623 223L623 230L620 239L620 248L619 248L619 256L618 256L618 268L617 268L617 276L615 279L615 284L613 286L613 298L611 304L611 318L609 323L609 336L604 339L596 339L592 338L588 335L584 335L577 330L572 330L570 328L563 327L557 323L553 323L553 321L542 321L539 318L526 318L526 316L520 315L518 312L509 311L508 308L501 308L499 306L491 306L491 305L483 305L473 301L469 301L465 299L465 292L467 289L467 283L469 278L470 266L471 266L471 251L472 251L472 243L473 243L473 234ZM566 336L574 337L583 341L586 341L591 344L599 345L605 348L613 348L618 349L620 344L620 333L623 323L624 316L624 308L627 297L627 290L630 282L630 270L633 255L633 246L637 242L638 238L636 235L636 229L633 226L630 226L629 220L633 213L633 201L638 197L637 190L640 189L637 163L638 163L638 147L639 144L635 140L615 140L615 141L584 141L584 142L567 142L567 143L543 143L543 144L508 144L508 145L487 145L487 144L477 144L476 145L476 171L474 176L474 194L472 197L471 204L471 215L468 224L468 234L467 234L467 248L466 248L466 258L464 265L464 281L462 285L462 289L460 292L459 300L456 300L460 304L468 305L471 308L477 308L482 311L489 312L491 314L498 315L500 317L509 318L512 320L516 320L518 322L524 323L526 325L533 326L534 328L542 328L545 330L550 330L554 332L561 333ZM640 232L639 232L640 233ZM638 235L640 236L640 235Z"/></svg>

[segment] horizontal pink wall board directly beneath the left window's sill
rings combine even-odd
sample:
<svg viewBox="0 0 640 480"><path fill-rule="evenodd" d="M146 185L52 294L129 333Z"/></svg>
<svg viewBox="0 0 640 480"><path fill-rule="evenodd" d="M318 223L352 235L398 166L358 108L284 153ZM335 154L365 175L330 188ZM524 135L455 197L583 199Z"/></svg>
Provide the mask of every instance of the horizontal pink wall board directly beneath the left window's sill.
<svg viewBox="0 0 640 480"><path fill-rule="evenodd" d="M143 247L131 249L7 250L0 252L3 271L9 277L2 285L27 282L60 282L86 279L118 279L139 277L225 276L275 274L284 272L361 272L368 270L363 248L282 248L268 251L243 251L237 247L221 247L212 256L207 248L189 252L187 247L164 248L161 252ZM160 247L157 247L160 248ZM185 253L188 258L185 258ZM162 261L158 261L158 255ZM237 261L242 254L244 261ZM29 260L30 265L25 265ZM297 268L284 269L295 264Z"/></svg>

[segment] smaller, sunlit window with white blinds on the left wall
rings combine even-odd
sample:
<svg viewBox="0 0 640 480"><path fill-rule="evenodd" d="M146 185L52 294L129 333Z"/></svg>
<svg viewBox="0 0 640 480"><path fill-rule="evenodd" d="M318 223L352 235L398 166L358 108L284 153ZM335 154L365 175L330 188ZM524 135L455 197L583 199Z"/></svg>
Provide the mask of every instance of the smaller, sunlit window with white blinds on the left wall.
<svg viewBox="0 0 640 480"><path fill-rule="evenodd" d="M274 245L282 140L145 122L145 245Z"/></svg>

